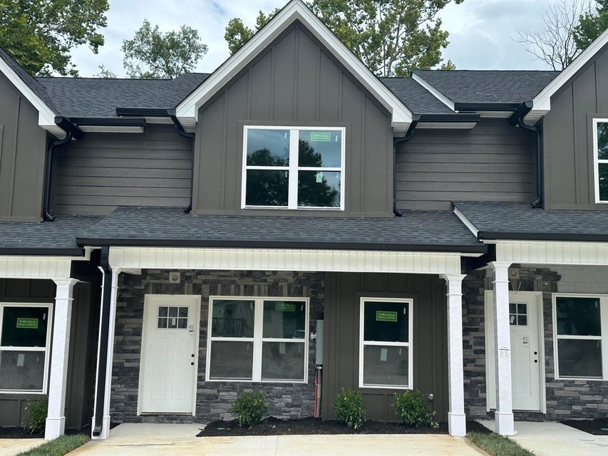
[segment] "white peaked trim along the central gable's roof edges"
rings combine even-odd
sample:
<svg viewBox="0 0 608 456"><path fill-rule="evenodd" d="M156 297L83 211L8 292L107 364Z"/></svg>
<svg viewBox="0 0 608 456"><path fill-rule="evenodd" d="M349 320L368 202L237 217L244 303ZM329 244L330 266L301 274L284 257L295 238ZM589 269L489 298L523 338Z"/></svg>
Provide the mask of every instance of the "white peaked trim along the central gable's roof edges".
<svg viewBox="0 0 608 456"><path fill-rule="evenodd" d="M334 57L391 112L394 132L396 134L405 133L412 121L410 110L376 78L359 58L354 56L349 48L344 46L344 43L336 38L334 33L310 11L302 0L292 0L284 6L262 30L249 39L242 48L232 54L220 68L217 68L209 78L177 105L175 114L184 128L189 131L194 130L198 120L198 108L210 100L217 90L237 76L239 71L297 20L302 22L331 51Z"/></svg>

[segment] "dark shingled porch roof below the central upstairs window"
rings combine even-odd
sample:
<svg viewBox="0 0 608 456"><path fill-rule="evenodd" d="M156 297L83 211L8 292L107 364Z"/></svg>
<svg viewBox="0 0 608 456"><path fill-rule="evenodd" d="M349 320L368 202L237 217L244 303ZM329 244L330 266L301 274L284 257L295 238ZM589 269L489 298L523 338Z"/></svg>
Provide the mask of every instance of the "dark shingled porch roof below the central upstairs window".
<svg viewBox="0 0 608 456"><path fill-rule="evenodd" d="M302 247L434 249L480 252L484 247L447 211L405 211L403 217L194 217L173 207L119 207L79 236L80 244L173 247ZM156 243L158 244L158 243Z"/></svg>

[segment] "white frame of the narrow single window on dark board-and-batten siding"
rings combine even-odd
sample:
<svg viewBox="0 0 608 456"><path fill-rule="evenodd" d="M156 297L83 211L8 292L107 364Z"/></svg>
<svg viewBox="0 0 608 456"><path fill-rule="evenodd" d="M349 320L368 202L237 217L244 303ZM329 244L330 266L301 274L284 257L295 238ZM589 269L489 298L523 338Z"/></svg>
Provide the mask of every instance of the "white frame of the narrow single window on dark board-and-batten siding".
<svg viewBox="0 0 608 456"><path fill-rule="evenodd" d="M364 306L366 301L386 302L396 304L408 304L408 341L407 342L383 342L364 341ZM376 298L373 296L362 297L359 302L359 388L374 388L385 390L412 390L413 389L413 299L411 298ZM368 385L364 383L364 347L370 346L396 346L408 348L408 385Z"/></svg>

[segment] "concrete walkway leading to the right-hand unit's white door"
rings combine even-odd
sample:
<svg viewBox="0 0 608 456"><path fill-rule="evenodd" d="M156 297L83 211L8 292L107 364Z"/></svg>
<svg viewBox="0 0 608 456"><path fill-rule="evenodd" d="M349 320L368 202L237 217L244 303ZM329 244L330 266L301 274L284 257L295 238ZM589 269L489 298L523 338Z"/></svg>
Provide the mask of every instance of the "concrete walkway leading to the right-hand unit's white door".
<svg viewBox="0 0 608 456"><path fill-rule="evenodd" d="M480 423L494 430L493 421ZM510 438L537 456L608 455L608 435L592 435L555 421L515 421L515 432Z"/></svg>

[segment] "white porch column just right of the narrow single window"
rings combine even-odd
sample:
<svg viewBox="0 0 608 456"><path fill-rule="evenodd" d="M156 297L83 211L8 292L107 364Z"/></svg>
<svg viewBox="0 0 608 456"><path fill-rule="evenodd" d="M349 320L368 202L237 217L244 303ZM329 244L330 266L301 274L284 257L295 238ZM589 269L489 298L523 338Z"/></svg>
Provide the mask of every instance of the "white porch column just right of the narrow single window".
<svg viewBox="0 0 608 456"><path fill-rule="evenodd" d="M441 276L448 285L448 430L466 435L463 375L463 279L464 274Z"/></svg>

